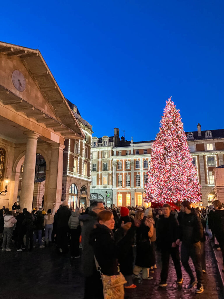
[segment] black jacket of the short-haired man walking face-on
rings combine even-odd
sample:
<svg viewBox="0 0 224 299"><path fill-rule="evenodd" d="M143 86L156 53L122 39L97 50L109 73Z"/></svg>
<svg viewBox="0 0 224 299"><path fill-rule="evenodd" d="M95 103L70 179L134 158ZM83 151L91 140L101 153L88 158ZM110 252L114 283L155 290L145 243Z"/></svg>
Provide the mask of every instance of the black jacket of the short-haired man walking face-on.
<svg viewBox="0 0 224 299"><path fill-rule="evenodd" d="M172 243L180 238L179 224L173 214L168 218L161 215L157 220L157 245L159 248L171 248Z"/></svg>

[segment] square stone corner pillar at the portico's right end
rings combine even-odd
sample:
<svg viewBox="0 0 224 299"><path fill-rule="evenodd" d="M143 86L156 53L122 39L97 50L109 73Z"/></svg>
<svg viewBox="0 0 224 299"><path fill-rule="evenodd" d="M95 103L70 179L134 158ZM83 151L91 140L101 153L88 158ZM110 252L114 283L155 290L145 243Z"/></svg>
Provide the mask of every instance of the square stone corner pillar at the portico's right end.
<svg viewBox="0 0 224 299"><path fill-rule="evenodd" d="M62 174L63 174L63 144L51 145L50 169L48 173L48 186L45 191L44 208L53 209L55 203L56 209L62 201Z"/></svg>

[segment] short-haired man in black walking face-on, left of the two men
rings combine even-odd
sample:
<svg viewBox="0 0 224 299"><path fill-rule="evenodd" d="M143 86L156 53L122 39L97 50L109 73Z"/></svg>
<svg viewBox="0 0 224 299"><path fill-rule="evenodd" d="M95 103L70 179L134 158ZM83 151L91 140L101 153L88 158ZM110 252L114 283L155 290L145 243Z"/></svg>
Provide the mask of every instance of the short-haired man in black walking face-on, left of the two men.
<svg viewBox="0 0 224 299"><path fill-rule="evenodd" d="M182 272L180 266L179 246L176 241L179 239L179 225L171 212L171 206L164 204L162 206L163 215L157 221L157 245L161 249L162 271L160 274L161 282L159 286L167 286L166 280L169 271L170 255L174 262L177 273L177 283L182 283Z"/></svg>

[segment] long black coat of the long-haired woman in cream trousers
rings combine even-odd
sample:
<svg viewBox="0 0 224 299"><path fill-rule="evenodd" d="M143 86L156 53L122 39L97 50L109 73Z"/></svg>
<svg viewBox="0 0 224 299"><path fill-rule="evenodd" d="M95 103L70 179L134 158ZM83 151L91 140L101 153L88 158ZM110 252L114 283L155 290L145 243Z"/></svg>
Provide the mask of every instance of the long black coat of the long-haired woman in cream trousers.
<svg viewBox="0 0 224 299"><path fill-rule="evenodd" d="M142 268L150 268L153 266L153 255L150 238L148 232L150 228L141 223L136 228L136 260L135 265Z"/></svg>

